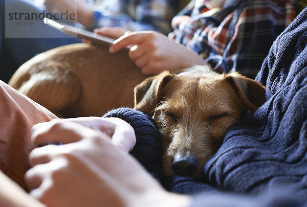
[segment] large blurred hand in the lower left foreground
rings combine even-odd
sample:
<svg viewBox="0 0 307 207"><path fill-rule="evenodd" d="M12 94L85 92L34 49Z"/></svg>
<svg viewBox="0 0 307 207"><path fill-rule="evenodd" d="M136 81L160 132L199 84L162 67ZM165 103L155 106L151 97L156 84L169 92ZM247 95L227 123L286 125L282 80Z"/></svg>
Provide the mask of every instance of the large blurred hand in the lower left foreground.
<svg viewBox="0 0 307 207"><path fill-rule="evenodd" d="M63 144L35 148L30 153L33 168L25 175L30 195L49 207L189 203L188 197L165 192L137 160L93 128L67 120L34 126L34 144ZM116 136L113 134L113 139Z"/></svg>

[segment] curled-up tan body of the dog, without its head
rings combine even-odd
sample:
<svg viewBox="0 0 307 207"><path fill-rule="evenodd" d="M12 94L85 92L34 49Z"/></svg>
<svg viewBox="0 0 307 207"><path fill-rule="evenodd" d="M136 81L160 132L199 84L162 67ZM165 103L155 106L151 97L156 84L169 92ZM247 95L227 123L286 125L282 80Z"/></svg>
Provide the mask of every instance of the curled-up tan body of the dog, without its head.
<svg viewBox="0 0 307 207"><path fill-rule="evenodd" d="M133 107L133 88L147 76L127 55L107 47L71 44L21 65L9 84L60 117L99 116Z"/></svg>

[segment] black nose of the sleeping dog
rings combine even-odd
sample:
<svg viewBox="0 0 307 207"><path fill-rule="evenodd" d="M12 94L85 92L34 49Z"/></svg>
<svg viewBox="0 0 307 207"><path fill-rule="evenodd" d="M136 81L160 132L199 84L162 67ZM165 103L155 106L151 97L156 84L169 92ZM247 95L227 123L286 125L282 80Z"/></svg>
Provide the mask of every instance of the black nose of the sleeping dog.
<svg viewBox="0 0 307 207"><path fill-rule="evenodd" d="M197 169L198 162L192 156L177 155L172 162L174 173L182 176L191 176Z"/></svg>

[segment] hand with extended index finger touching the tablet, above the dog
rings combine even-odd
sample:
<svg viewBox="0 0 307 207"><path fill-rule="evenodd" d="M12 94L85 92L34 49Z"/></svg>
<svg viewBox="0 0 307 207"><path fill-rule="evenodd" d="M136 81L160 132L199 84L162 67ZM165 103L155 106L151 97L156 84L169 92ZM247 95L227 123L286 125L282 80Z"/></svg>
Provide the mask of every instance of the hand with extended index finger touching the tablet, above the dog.
<svg viewBox="0 0 307 207"><path fill-rule="evenodd" d="M176 72L194 64L206 64L198 54L153 31L125 33L113 42L109 52L115 53L128 45L134 45L129 57L145 75L157 75L165 70Z"/></svg>

